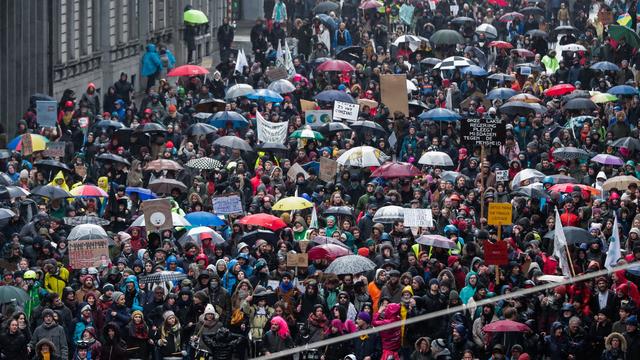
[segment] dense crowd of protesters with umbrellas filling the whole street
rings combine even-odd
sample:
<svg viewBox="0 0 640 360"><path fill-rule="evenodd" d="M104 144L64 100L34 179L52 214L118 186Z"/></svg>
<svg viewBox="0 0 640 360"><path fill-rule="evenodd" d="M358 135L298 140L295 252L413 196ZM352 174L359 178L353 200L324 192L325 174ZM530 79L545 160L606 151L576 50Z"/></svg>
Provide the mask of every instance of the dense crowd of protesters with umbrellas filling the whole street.
<svg viewBox="0 0 640 360"><path fill-rule="evenodd" d="M225 21L207 76L165 77L175 58L149 44L143 96L123 73L103 97L65 91L54 128L35 103L25 112L0 160L0 358L244 359L397 323L296 358L640 359L638 268L570 280L640 261L635 1L264 4L246 66ZM274 80L285 41L296 74ZM334 59L353 70L316 70ZM386 74L406 74L408 112L382 101ZM230 94L276 81L290 83L279 101ZM303 104L328 90L360 104L359 127L306 123ZM262 144L259 116L288 123L287 140ZM475 118L505 124L500 146L464 140ZM53 142L64 155L48 158ZM320 173L360 146L402 171ZM450 163L424 164L433 152ZM229 195L241 213L206 216ZM205 229L140 225L154 198ZM512 205L510 224L488 224L491 202ZM381 216L393 206L430 209L433 226ZM87 223L106 231L108 259L75 268L71 233ZM485 259L497 241L505 265ZM307 266L289 266L300 253ZM341 256L375 266L336 274Z"/></svg>

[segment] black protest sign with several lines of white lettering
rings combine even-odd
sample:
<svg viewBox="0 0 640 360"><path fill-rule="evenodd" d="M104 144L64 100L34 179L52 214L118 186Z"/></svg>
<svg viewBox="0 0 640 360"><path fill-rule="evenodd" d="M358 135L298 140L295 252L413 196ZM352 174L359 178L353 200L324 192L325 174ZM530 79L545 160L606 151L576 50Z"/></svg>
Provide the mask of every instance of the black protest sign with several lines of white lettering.
<svg viewBox="0 0 640 360"><path fill-rule="evenodd" d="M498 118L463 119L460 133L465 145L500 146L507 137L506 125Z"/></svg>

